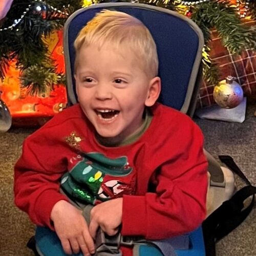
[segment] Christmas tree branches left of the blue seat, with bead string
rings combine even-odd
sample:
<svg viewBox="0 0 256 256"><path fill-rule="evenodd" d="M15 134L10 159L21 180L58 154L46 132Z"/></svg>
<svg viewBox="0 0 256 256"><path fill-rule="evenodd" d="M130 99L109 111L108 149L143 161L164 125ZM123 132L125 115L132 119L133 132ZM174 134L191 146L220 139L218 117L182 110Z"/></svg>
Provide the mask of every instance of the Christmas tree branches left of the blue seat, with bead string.
<svg viewBox="0 0 256 256"><path fill-rule="evenodd" d="M22 87L31 94L63 81L63 74L56 73L44 38L60 29L81 6L82 1L78 0L14 0L0 24L0 79L5 78L8 61L15 59L22 72Z"/></svg>

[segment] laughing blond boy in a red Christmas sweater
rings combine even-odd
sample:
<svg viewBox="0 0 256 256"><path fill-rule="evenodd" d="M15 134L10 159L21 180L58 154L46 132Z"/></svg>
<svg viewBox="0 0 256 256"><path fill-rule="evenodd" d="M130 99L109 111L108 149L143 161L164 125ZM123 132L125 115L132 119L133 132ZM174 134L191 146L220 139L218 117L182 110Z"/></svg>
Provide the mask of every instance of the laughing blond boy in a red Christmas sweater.
<svg viewBox="0 0 256 256"><path fill-rule="evenodd" d="M74 46L79 104L25 140L15 203L55 230L69 254L94 253L99 227L154 240L195 229L205 217L203 136L189 117L156 103L161 85L150 32L128 14L105 10ZM90 225L84 204L95 205Z"/></svg>

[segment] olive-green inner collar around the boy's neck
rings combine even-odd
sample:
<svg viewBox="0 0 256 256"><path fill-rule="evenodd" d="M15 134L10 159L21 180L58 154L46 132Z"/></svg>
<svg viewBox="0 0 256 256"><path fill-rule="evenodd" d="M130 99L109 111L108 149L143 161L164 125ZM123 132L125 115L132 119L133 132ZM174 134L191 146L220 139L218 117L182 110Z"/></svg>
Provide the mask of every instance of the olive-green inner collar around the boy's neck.
<svg viewBox="0 0 256 256"><path fill-rule="evenodd" d="M103 146L124 146L135 142L144 132L147 130L148 126L150 126L152 120L152 113L147 108L145 109L142 117L142 124L133 134L128 136L127 138L120 138L116 136L115 138L105 138L100 136L99 134L95 135L96 140Z"/></svg>

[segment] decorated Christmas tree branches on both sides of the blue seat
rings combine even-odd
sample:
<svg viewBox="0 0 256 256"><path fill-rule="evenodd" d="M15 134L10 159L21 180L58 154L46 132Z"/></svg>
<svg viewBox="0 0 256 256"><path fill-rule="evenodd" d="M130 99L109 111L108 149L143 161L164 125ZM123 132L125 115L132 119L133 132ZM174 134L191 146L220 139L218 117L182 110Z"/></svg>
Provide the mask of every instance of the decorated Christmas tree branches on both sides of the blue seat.
<svg viewBox="0 0 256 256"><path fill-rule="evenodd" d="M92 3L106 2L131 1L95 0ZM133 2L155 5L180 13L182 13L181 3L188 3L191 19L204 34L203 74L208 82L218 81L218 67L209 57L208 43L212 28L217 29L223 45L230 53L239 54L247 48L255 49L255 28L245 26L237 10L227 1L135 0ZM82 5L82 0L14 0L7 17L0 23L0 79L5 77L8 61L16 59L17 67L23 72L22 86L27 87L30 93L42 92L55 82L59 82L63 75L53 76L53 73L56 73L56 67L50 58L44 37L53 30L61 28L68 16ZM254 2L249 6L252 8L253 18L255 17ZM36 70L40 71L38 75Z"/></svg>

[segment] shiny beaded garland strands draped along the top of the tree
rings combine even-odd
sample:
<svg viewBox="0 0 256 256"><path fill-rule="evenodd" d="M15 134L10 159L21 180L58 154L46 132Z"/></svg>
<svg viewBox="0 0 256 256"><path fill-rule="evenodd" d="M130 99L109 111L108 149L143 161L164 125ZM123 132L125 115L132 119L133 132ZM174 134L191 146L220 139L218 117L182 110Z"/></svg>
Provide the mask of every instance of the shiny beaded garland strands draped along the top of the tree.
<svg viewBox="0 0 256 256"><path fill-rule="evenodd" d="M34 0L34 1L40 3L39 5L37 5L37 6L35 7L35 10L38 11L38 12L40 12L40 11L42 10L41 6L42 6L43 4L46 5L43 0ZM154 2L154 1L155 1L155 0L150 0L149 3ZM198 1L191 1L191 2L190 2L190 1L184 1L184 0L175 0L175 2L177 2L177 3L181 4L181 5L184 5L184 6L194 6L194 5L202 4L202 3L205 3L205 2L208 2L208 1L210 1L210 0L198 0ZM90 1L90 2L91 2L91 1ZM169 0L166 0L166 2L169 2ZM240 16L241 18L245 18L245 17L246 17L246 15L247 15L247 13L248 13L248 9L249 9L249 3L250 3L250 0L245 0L245 3L244 3L244 10L243 10L243 12L240 12L241 0L237 0L238 14L239 14L239 16ZM49 8L51 8L53 11L58 12L59 14L66 15L66 16L69 15L68 13L63 12L63 11L61 11L61 10L58 10L58 9L54 8L53 6L51 6L51 5L47 5L47 6L48 6ZM28 7L27 7L26 10L23 12L22 16L20 16L19 19L15 19L15 20L14 20L14 23L13 23L11 26L6 27L6 28L1 28L1 29L0 29L0 32L6 31L6 30L12 30L12 29L14 29L14 28L20 23L20 21L27 15L27 13L30 11L31 7L34 8L34 6L32 6L31 4L28 5ZM69 7L69 5L68 5L68 7ZM63 8L65 8L65 6L63 6ZM18 29L17 29L17 30L18 30Z"/></svg>

